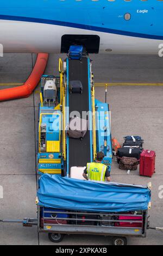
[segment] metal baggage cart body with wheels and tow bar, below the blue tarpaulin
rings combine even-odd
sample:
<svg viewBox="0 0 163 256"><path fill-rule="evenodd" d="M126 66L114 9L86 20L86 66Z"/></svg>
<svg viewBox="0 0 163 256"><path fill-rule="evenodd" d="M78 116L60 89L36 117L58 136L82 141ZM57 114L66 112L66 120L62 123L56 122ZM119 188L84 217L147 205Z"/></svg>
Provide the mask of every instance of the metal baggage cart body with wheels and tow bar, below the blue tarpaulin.
<svg viewBox="0 0 163 256"><path fill-rule="evenodd" d="M54 243L61 242L65 235L87 234L110 236L112 245L127 245L128 237L146 237L149 228L147 210L118 214L114 212L108 214L104 212L65 211L65 216L68 217L60 217L63 211L53 209L53 216L43 218L41 217L41 211L42 207L38 206L37 219L24 218L24 220L1 220L1 222L22 223L23 227L37 225L38 232L47 233L49 240ZM46 215L50 212L47 209L45 210ZM83 216L86 217L83 218ZM121 219L123 216L124 220L120 220L120 216ZM137 220L134 220L133 216L136 216ZM123 225L119 226L118 223L123 223Z"/></svg>

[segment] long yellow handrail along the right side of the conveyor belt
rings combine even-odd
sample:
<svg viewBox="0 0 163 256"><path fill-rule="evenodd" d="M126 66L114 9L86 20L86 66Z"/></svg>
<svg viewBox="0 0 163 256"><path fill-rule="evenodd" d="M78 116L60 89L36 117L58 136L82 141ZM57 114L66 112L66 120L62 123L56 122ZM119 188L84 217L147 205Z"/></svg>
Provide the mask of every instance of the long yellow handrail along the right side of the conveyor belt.
<svg viewBox="0 0 163 256"><path fill-rule="evenodd" d="M92 121L93 121L93 160L96 160L96 113L95 113L95 88L92 88Z"/></svg>

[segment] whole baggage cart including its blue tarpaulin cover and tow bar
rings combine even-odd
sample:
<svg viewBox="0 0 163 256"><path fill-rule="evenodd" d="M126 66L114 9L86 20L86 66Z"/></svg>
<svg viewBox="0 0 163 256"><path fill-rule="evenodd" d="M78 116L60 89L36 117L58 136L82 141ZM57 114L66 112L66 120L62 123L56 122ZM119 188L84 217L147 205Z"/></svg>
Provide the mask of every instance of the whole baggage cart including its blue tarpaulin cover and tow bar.
<svg viewBox="0 0 163 256"><path fill-rule="evenodd" d="M62 182L62 191L60 190L59 195L62 198L66 193L67 201L65 198L65 203L61 203L61 198L58 197L58 192L56 192L57 184L60 184L58 183L59 180ZM52 191L48 184L49 181L51 182ZM39 192L37 192L37 219L24 218L22 221L2 220L2 222L22 223L24 227L32 227L33 225L37 225L38 233L47 233L49 240L54 243L61 242L65 235L71 234L110 236L112 237L112 245L127 245L128 237L146 237L147 229L149 228L148 209L151 209L151 182L149 182L148 186L115 184L113 182L98 183L70 178L63 179L59 176L52 176L48 174L41 176L39 185L41 185L41 182L45 182L44 184L46 184L46 187L43 188L43 192L41 188L39 189ZM92 206L89 208L89 210L86 210L86 205L84 206L82 204L83 200L80 200L83 196L83 186L84 191L86 189L85 182L87 185L89 185L89 191L92 189L94 196L96 195L96 205L92 202ZM78 191L77 198L73 198L70 191L68 191L70 184L73 185L73 190L69 188L71 192L74 191L75 193ZM76 188L74 186L75 184L77 185ZM54 190L54 187L56 191ZM105 188L105 190L106 188L108 189L105 191L102 190L102 187ZM49 198L46 188L48 188L48 193L51 194L51 204L48 203ZM99 194L98 190L100 191ZM129 198L126 196L121 196L121 202L119 204L118 195L121 194L122 190L122 194L124 194L124 191L129 193ZM137 202L139 206L136 206L137 204L135 204L135 201L133 204L130 202L130 195L137 194L137 190L139 191L140 198L141 193L143 194L143 197L141 198L142 202L144 198L143 206L141 204L139 205L139 202ZM55 201L55 192L57 193L57 201ZM103 194L103 197L105 198L108 193L112 192L114 192L114 195L112 195L111 201L114 200L114 205L112 205L112 207L109 206L111 202L108 198L106 201L103 199L105 203L102 207L102 202L100 200L101 194ZM70 198L68 197L68 194L70 194ZM71 203L72 198L73 203ZM89 200L88 194L87 200ZM98 208L99 210L95 210L96 206L98 205L97 201L101 202L100 207ZM74 204L74 202L76 203ZM131 205L128 205L129 208L125 206L122 208L122 202L125 202L125 205L127 202L130 202ZM60 205L57 209L55 209L56 206L52 206L56 205L55 203ZM106 207L108 203L108 210L104 210L106 209L104 207Z"/></svg>

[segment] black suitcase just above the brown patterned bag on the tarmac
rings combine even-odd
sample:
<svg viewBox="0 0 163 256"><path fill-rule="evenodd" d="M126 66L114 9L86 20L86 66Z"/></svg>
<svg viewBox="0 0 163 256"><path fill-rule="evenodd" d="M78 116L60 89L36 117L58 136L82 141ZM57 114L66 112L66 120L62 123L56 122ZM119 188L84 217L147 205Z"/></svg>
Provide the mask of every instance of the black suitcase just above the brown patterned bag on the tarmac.
<svg viewBox="0 0 163 256"><path fill-rule="evenodd" d="M119 163L120 159L123 156L135 157L137 160L139 160L141 151L142 150L140 148L119 148L118 151L117 151L117 161Z"/></svg>

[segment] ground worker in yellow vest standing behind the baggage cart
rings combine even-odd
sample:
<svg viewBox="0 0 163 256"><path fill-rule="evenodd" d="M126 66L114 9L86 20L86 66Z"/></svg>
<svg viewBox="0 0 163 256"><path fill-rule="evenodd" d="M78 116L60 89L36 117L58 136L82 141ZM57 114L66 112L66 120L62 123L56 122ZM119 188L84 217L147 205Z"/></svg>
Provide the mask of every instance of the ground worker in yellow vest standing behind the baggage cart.
<svg viewBox="0 0 163 256"><path fill-rule="evenodd" d="M110 181L110 172L108 167L101 163L103 158L103 152L98 152L96 162L87 163L87 167L83 173L83 177L86 180L105 181L106 178L106 181Z"/></svg>

